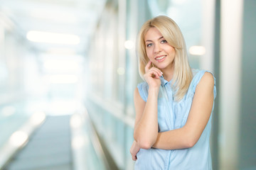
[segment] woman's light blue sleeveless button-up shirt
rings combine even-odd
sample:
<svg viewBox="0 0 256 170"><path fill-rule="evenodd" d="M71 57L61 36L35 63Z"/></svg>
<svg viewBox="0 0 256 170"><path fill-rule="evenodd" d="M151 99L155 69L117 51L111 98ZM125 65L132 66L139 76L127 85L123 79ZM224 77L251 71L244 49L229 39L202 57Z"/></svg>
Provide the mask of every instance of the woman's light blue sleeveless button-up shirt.
<svg viewBox="0 0 256 170"><path fill-rule="evenodd" d="M186 124L188 113L191 109L193 96L196 91L198 82L203 77L206 70L193 70L193 79L188 88L188 92L181 101L174 101L174 90L171 89L171 81L166 81L161 77L161 86L158 98L158 123L159 132L182 128ZM215 78L214 78L215 81ZM139 94L144 101L148 97L149 86L146 82L138 84ZM214 98L216 96L216 88L214 82ZM214 106L214 104L213 104ZM213 113L213 109L212 109ZM174 170L208 170L212 169L210 157L210 127L211 118L203 130L201 137L196 145L188 149L140 149L137 153L137 161L134 169L151 170L151 169L174 169Z"/></svg>

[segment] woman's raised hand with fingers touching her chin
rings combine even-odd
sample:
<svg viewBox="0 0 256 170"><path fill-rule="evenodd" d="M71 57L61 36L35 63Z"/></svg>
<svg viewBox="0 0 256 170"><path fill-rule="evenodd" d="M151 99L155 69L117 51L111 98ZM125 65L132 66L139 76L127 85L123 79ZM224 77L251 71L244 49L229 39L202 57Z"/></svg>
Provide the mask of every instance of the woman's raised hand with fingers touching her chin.
<svg viewBox="0 0 256 170"><path fill-rule="evenodd" d="M151 63L152 62L149 61L146 64L144 79L146 80L147 84L149 84L149 87L159 88L159 86L161 85L160 77L163 73L156 67L150 68Z"/></svg>

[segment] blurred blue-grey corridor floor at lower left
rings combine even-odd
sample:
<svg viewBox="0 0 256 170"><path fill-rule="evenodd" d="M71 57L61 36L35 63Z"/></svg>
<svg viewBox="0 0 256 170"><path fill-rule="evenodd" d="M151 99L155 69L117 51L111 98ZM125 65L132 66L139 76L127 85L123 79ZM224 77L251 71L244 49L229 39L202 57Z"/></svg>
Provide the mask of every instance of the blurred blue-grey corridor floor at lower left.
<svg viewBox="0 0 256 170"><path fill-rule="evenodd" d="M70 115L48 116L4 170L71 170Z"/></svg>

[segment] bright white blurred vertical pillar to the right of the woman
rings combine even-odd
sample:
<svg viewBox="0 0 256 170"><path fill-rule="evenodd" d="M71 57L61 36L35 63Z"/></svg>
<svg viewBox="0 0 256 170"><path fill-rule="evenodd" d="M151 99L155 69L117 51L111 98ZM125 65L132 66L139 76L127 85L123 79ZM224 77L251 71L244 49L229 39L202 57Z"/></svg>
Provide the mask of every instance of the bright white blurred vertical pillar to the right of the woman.
<svg viewBox="0 0 256 170"><path fill-rule="evenodd" d="M220 1L220 169L238 169L243 0Z"/></svg>

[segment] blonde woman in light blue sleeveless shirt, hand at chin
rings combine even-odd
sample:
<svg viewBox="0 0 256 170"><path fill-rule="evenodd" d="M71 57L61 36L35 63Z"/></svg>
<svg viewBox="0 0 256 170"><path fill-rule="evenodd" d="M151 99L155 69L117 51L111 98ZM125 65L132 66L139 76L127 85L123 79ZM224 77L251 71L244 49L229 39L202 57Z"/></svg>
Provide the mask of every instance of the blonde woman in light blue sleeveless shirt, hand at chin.
<svg viewBox="0 0 256 170"><path fill-rule="evenodd" d="M191 70L181 30L167 16L144 23L138 50L144 82L134 91L135 169L212 169L213 74Z"/></svg>

